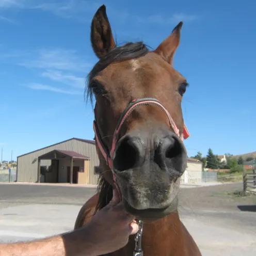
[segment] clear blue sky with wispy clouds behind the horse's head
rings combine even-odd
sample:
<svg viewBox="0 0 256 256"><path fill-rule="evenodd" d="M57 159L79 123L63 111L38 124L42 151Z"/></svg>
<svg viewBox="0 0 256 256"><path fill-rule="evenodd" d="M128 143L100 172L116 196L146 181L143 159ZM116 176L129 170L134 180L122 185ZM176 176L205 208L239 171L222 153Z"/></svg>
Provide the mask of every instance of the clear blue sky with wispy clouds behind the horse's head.
<svg viewBox="0 0 256 256"><path fill-rule="evenodd" d="M193 2L193 3L191 3ZM188 155L255 151L253 1L0 0L3 159L72 137L92 139L85 77L97 61L90 22L105 4L118 43L156 47L183 20L174 67L190 86L183 99Z"/></svg>

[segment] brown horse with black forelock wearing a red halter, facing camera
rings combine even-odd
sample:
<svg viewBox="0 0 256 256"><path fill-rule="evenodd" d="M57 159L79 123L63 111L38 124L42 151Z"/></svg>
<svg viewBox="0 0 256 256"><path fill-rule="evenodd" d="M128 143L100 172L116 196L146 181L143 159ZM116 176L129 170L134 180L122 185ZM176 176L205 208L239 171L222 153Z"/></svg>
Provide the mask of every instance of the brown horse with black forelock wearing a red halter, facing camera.
<svg viewBox="0 0 256 256"><path fill-rule="evenodd" d="M189 136L181 108L188 83L172 67L182 24L154 51L142 42L117 46L104 5L91 24L99 61L88 76L88 95L96 99L94 131L102 174L99 193L84 204L75 229L111 200L116 186L126 211L144 223L145 256L201 255L178 214L187 162L183 138ZM130 236L125 247L107 255L131 256L134 248Z"/></svg>

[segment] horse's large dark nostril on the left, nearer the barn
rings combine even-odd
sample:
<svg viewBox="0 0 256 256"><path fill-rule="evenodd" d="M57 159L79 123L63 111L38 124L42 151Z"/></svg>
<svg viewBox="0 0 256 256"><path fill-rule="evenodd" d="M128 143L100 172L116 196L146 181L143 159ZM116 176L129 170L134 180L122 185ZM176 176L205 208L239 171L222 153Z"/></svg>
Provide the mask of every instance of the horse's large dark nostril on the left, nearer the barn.
<svg viewBox="0 0 256 256"><path fill-rule="evenodd" d="M118 171L129 170L141 163L142 145L138 138L126 136L118 145L113 166Z"/></svg>

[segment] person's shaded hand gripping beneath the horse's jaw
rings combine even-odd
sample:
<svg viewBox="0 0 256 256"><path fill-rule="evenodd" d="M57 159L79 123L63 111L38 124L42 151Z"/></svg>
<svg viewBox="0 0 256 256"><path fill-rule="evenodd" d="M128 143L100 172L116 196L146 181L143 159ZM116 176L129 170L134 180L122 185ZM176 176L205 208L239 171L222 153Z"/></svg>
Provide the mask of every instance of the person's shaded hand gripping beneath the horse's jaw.
<svg viewBox="0 0 256 256"><path fill-rule="evenodd" d="M97 212L85 227L93 249L90 255L101 255L124 247L129 236L138 232L134 216L127 213L120 202L118 191L113 190L113 199Z"/></svg>

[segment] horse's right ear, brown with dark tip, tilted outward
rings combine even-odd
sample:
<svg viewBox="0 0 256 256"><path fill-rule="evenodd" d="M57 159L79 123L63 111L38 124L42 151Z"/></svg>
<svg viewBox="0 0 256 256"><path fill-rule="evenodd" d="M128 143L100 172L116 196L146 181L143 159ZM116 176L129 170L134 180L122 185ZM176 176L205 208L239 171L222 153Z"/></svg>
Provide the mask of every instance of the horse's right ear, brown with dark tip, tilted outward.
<svg viewBox="0 0 256 256"><path fill-rule="evenodd" d="M180 44L182 25L183 22L181 21L173 28L171 35L167 37L161 44L159 44L155 50L155 52L161 55L161 57L170 63L170 65L172 65L174 53Z"/></svg>

